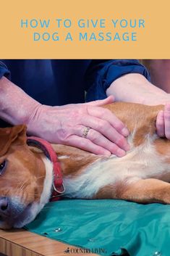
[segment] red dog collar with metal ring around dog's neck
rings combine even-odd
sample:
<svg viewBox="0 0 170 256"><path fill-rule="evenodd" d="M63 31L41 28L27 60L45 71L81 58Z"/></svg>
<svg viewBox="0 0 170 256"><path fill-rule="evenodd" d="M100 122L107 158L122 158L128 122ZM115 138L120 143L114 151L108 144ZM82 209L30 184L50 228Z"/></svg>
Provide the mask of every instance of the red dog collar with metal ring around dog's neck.
<svg viewBox="0 0 170 256"><path fill-rule="evenodd" d="M37 137L28 137L27 138L27 144L30 146L37 146L39 149L43 150L43 153L48 157L51 162L53 162L54 166L54 182L53 187L54 191L51 195L50 201L56 201L59 199L59 196L64 193L64 184L62 180L62 174L61 174L61 166L58 162L56 152L54 151L51 144L48 143L48 141L45 141L44 139L37 138Z"/></svg>

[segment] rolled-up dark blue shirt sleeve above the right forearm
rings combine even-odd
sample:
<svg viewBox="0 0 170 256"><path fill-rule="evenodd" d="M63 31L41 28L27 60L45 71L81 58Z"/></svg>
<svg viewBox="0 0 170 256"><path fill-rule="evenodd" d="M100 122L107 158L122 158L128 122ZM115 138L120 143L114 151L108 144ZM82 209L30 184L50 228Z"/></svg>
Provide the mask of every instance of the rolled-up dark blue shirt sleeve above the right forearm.
<svg viewBox="0 0 170 256"><path fill-rule="evenodd" d="M148 70L137 59L92 60L85 75L86 102L105 99L111 83L129 73L138 73L150 80Z"/></svg>

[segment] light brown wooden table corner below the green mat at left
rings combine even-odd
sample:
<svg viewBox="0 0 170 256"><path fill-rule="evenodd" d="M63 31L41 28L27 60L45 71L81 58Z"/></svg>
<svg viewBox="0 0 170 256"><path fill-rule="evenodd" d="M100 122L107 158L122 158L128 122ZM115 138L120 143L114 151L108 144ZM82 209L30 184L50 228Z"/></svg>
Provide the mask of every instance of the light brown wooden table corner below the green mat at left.
<svg viewBox="0 0 170 256"><path fill-rule="evenodd" d="M1 253L7 256L92 256L90 253L65 253L76 247L63 244L59 241L48 239L44 236L30 233L25 230L1 231L0 230L0 256Z"/></svg>

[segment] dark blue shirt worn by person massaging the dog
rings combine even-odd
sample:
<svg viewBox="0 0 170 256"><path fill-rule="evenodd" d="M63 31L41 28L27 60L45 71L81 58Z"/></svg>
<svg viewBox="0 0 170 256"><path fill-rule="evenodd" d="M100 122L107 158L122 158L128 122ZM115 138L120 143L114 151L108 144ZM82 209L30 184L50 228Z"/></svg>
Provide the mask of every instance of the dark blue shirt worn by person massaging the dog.
<svg viewBox="0 0 170 256"><path fill-rule="evenodd" d="M4 65L4 64L6 65ZM10 76L9 76L10 71ZM127 73L148 71L136 59L6 59L0 78L7 76L42 104L63 105L106 98L106 88Z"/></svg>

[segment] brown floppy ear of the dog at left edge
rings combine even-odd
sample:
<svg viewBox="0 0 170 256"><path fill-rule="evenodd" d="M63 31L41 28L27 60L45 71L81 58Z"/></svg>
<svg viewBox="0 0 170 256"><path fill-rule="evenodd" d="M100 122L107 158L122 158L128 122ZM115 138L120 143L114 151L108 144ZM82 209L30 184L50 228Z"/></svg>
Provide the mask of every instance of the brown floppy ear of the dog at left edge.
<svg viewBox="0 0 170 256"><path fill-rule="evenodd" d="M27 127L25 125L0 128L0 157L7 153L12 143L18 146L26 144L26 131Z"/></svg>

